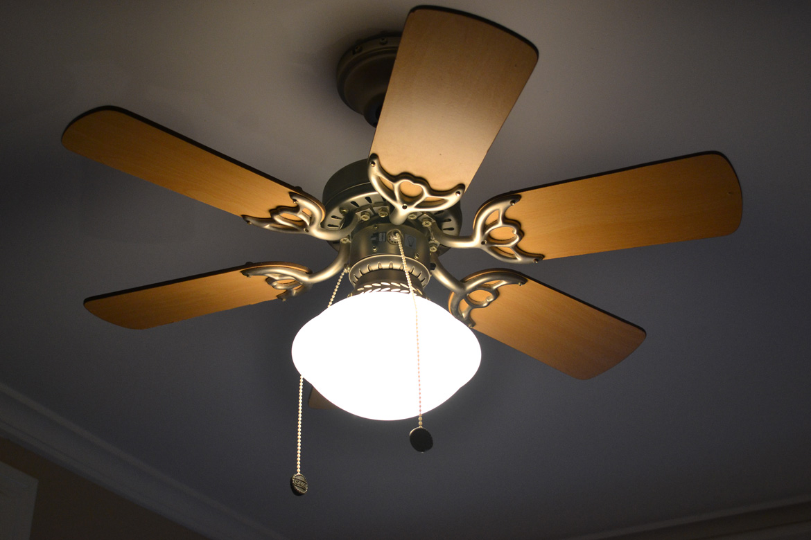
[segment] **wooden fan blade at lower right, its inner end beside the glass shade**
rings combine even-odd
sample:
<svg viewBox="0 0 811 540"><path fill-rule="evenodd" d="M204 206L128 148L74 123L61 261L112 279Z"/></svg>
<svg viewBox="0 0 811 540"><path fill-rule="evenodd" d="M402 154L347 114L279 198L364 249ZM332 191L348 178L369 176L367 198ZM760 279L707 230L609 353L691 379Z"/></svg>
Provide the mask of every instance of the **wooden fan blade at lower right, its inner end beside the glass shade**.
<svg viewBox="0 0 811 540"><path fill-rule="evenodd" d="M577 379L614 367L645 340L645 330L638 326L523 277L523 285L504 285L496 300L471 310L473 330ZM477 295L487 293L474 291L471 298L482 300Z"/></svg>

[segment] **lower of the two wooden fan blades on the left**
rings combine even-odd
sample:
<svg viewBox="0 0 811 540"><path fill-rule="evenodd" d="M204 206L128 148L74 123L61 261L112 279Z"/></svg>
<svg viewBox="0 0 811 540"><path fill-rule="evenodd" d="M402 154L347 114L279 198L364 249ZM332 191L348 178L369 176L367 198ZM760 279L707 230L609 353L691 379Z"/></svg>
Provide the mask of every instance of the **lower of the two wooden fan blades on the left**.
<svg viewBox="0 0 811 540"><path fill-rule="evenodd" d="M263 266L287 266L309 273L306 266L291 262L259 262L200 274L146 287L111 292L84 300L93 315L114 325L143 330L184 321L243 305L273 300L284 291L260 277L247 277L242 270Z"/></svg>

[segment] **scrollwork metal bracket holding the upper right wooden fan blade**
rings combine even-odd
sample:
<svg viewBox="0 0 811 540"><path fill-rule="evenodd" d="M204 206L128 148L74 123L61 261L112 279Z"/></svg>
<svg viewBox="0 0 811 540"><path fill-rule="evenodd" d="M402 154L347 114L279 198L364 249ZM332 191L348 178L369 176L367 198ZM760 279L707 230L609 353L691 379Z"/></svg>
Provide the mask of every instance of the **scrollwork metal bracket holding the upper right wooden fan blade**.
<svg viewBox="0 0 811 540"><path fill-rule="evenodd" d="M473 221L473 234L470 236L452 236L446 234L436 222L423 222L431 230L431 236L440 244L448 248L478 248L499 261L526 263L538 262L543 259L541 253L527 253L518 247L524 238L521 223L508 219L505 212L521 198L521 195L504 195L492 199L479 208ZM512 236L505 239L496 239L493 233L498 230L500 236L512 232Z"/></svg>

